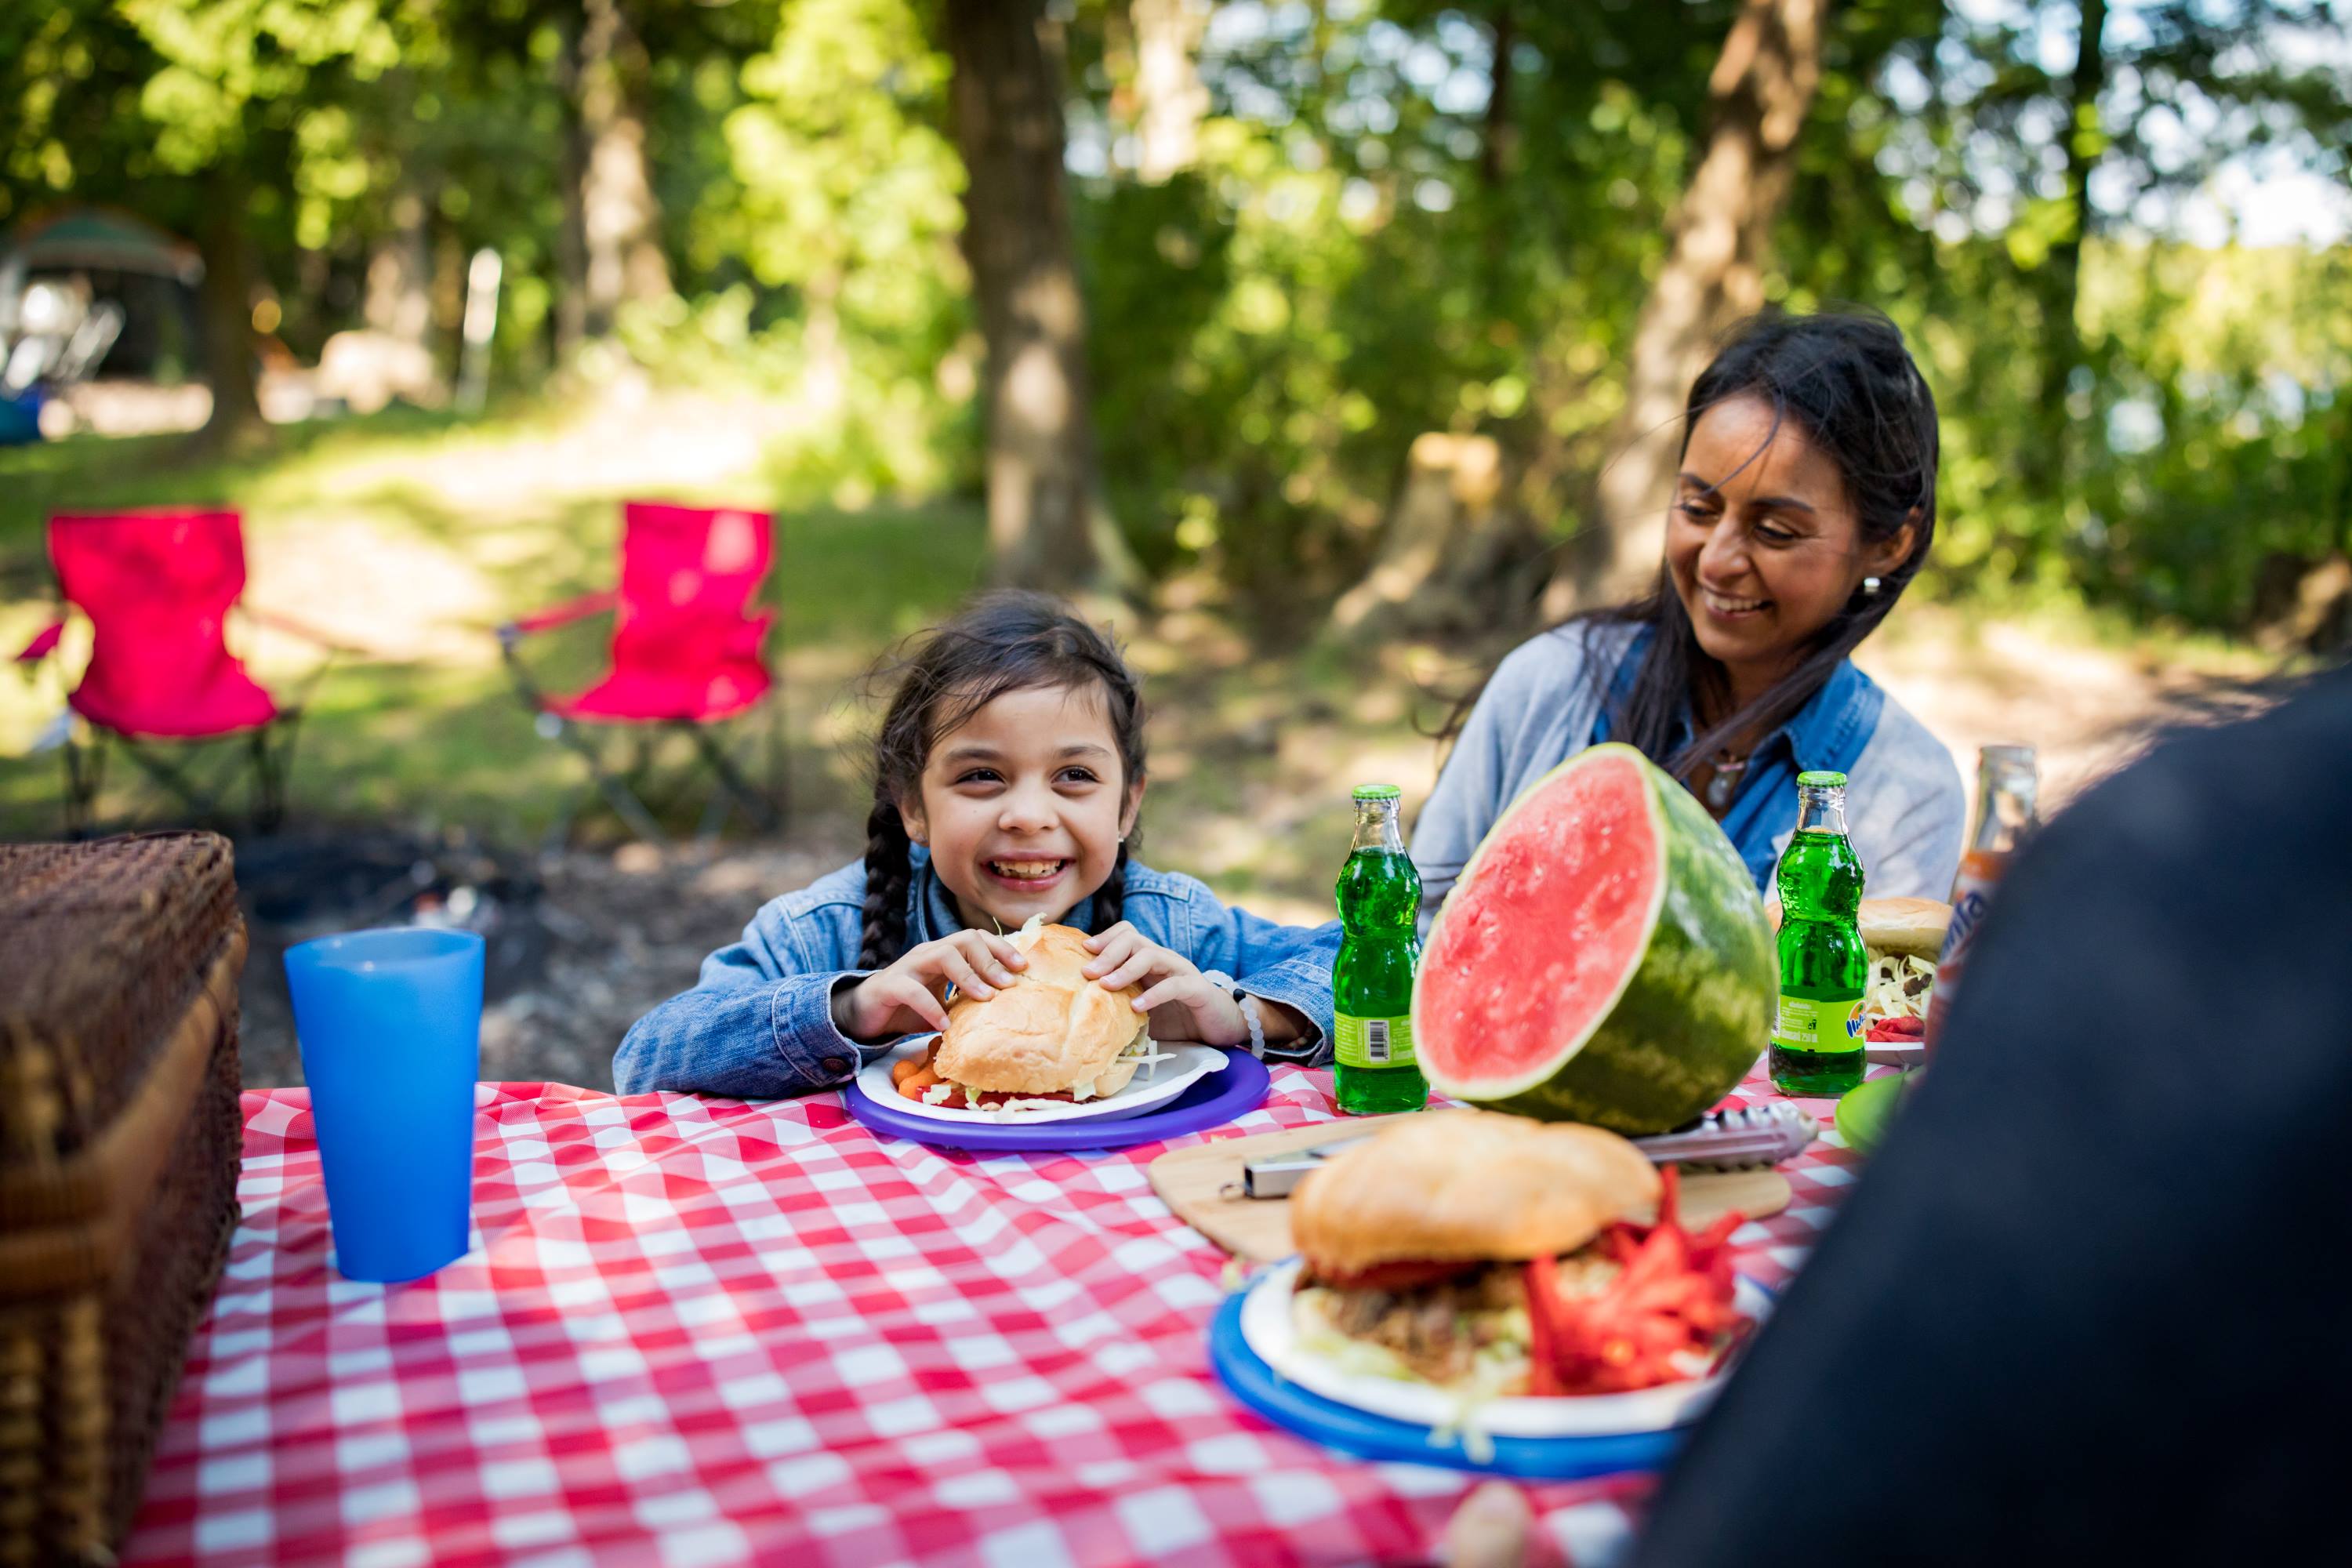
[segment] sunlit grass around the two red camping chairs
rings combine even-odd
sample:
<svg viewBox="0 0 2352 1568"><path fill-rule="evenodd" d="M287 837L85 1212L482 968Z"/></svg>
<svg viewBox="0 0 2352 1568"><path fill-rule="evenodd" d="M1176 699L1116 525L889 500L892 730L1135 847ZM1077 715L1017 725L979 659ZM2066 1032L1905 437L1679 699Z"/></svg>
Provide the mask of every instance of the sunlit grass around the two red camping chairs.
<svg viewBox="0 0 2352 1568"><path fill-rule="evenodd" d="M280 574L280 583L327 581L383 611L395 630L430 628L423 654L339 658L315 684L310 654L254 658L256 677L280 701L296 701L308 686L289 811L313 823L400 820L461 825L506 842L536 837L586 780L586 766L534 731L489 625L609 588L628 496L691 496L717 484L739 501L762 501L755 475L696 475L699 482L675 487L574 489L532 496L529 505L466 505L463 477L445 473L452 454L463 458L480 447L494 465L501 442L527 440L546 423L529 414L463 423L388 411L280 430L273 449L219 461L191 461L186 437L75 437L0 451L0 642L14 651L52 614L42 552L49 512L238 505L247 517L256 583L268 583L273 567L299 555L308 576ZM383 550L353 562L350 571L365 581L346 583L336 578L336 550L353 538ZM856 757L840 745L856 731L847 677L896 637L948 614L983 578L985 555L985 527L969 503L779 512L776 569L764 597L779 616L769 656L783 684L783 783L795 816L854 806ZM461 609L435 602L445 583L466 588ZM282 602L285 592L280 588L268 607L313 611L299 599ZM313 618L339 630L332 614ZM524 651L543 689L574 691L602 672L609 635L612 621L600 616L534 637ZM240 621L230 623L230 646L254 651ZM85 658L87 628L75 618L61 658L33 679L0 677L0 837L54 837L61 827L61 757L28 752L64 710ZM776 764L771 722L755 710L729 731L755 778L771 778ZM628 731L590 733L626 757ZM684 757L684 741L670 741L656 762ZM191 762L226 773L242 762L242 748L198 748ZM242 802L242 788L228 799ZM691 830L699 809L694 792L666 820ZM176 804L146 785L129 759L113 757L101 813L160 825L176 820ZM595 813L583 825L597 835L612 827Z"/></svg>

